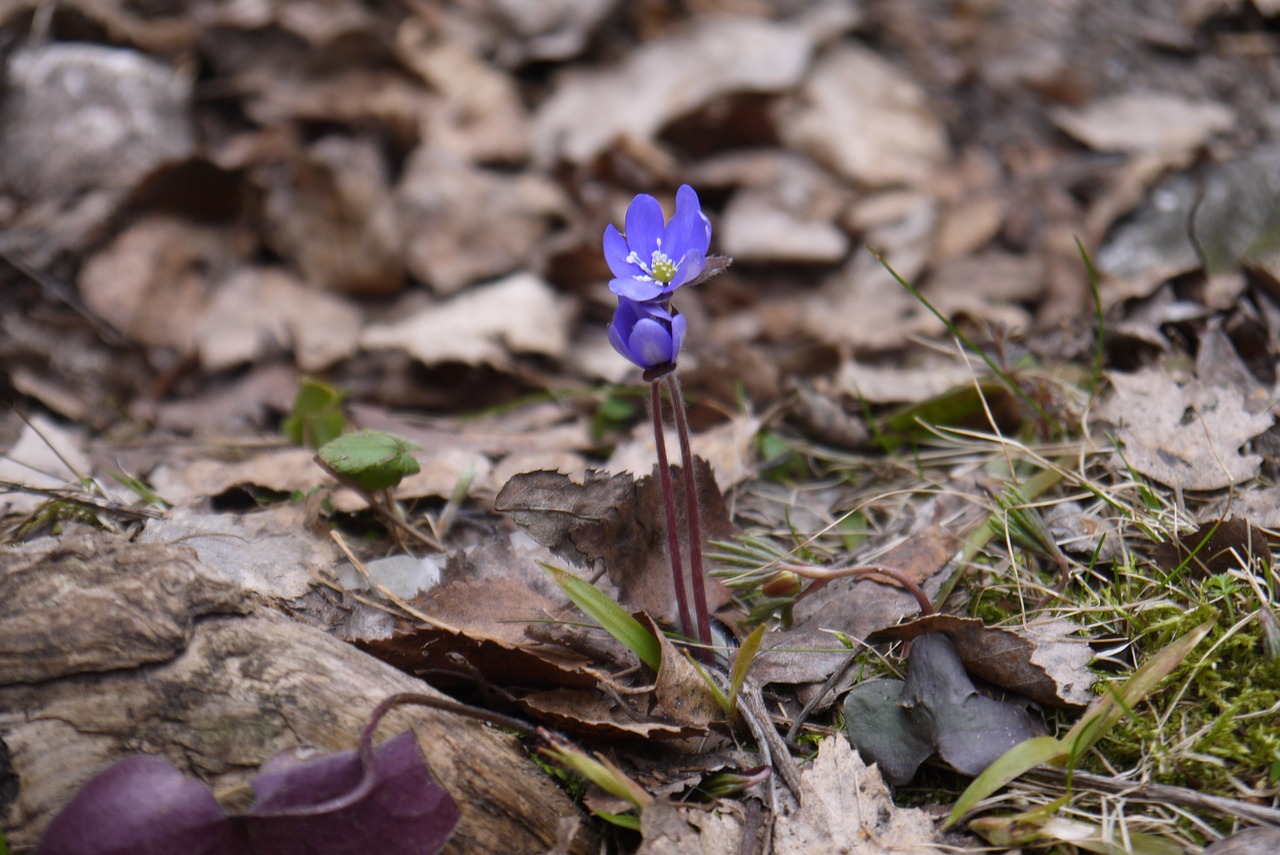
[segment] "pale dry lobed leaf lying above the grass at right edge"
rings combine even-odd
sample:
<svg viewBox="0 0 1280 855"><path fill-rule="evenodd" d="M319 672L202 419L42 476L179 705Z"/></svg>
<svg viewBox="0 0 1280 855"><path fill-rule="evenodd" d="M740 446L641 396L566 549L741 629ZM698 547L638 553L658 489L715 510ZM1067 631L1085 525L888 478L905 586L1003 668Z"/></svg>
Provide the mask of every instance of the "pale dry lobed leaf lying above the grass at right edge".
<svg viewBox="0 0 1280 855"><path fill-rule="evenodd" d="M1262 458L1240 447L1274 419L1251 413L1239 389L1179 384L1161 367L1107 376L1115 394L1096 417L1117 426L1124 462L1137 472L1184 490L1217 490L1258 474Z"/></svg>

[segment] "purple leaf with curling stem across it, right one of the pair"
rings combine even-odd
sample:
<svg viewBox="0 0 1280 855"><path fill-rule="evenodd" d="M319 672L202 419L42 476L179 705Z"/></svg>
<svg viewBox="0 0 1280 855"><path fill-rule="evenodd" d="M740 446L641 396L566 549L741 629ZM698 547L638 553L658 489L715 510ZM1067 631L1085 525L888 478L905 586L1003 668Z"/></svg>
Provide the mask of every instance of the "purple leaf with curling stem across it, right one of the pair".
<svg viewBox="0 0 1280 855"><path fill-rule="evenodd" d="M378 746L369 774L365 781L355 751L260 774L257 803L244 818L250 851L419 855L444 847L458 806L435 783L412 733Z"/></svg>

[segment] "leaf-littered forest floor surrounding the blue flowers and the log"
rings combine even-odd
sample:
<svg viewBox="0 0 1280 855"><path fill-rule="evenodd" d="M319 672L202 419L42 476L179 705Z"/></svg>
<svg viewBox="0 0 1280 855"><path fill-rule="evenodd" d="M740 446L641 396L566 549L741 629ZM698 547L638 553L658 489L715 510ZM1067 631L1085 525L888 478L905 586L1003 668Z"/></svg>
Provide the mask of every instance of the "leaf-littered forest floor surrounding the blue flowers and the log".
<svg viewBox="0 0 1280 855"><path fill-rule="evenodd" d="M545 849L1275 851L1277 15L5 4L0 591L191 549L608 758L622 795L530 753L585 829ZM605 333L605 227L681 184L732 259L675 300L710 675ZM357 430L404 442L343 479ZM96 769L31 795L8 685L26 851Z"/></svg>

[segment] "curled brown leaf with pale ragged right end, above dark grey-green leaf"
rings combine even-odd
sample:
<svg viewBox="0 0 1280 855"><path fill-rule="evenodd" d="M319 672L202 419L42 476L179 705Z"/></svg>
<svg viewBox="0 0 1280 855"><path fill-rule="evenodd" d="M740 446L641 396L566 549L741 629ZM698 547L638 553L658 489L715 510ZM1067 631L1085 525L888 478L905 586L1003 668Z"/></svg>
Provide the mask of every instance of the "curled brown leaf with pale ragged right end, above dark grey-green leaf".
<svg viewBox="0 0 1280 855"><path fill-rule="evenodd" d="M867 641L900 641L942 632L955 644L965 671L1050 707L1085 707L1093 700L1093 675L1088 664L1093 649L1071 637L1080 627L1070 621L1050 621L1006 630L978 618L931 614L867 636Z"/></svg>

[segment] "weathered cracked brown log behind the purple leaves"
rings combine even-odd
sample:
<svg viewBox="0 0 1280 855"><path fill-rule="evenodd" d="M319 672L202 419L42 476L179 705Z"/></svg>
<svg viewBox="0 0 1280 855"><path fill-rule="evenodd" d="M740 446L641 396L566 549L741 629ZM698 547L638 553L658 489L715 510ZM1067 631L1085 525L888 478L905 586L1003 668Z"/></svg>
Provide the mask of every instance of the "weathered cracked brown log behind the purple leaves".
<svg viewBox="0 0 1280 855"><path fill-rule="evenodd" d="M0 553L0 827L32 847L108 764L157 754L215 792L289 749L356 746L370 710L426 683L246 599L186 547L91 539ZM518 741L393 710L462 819L452 852L588 851L590 833Z"/></svg>

